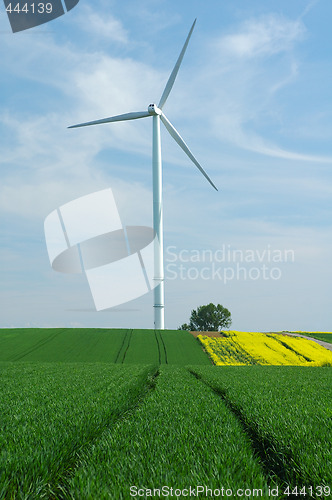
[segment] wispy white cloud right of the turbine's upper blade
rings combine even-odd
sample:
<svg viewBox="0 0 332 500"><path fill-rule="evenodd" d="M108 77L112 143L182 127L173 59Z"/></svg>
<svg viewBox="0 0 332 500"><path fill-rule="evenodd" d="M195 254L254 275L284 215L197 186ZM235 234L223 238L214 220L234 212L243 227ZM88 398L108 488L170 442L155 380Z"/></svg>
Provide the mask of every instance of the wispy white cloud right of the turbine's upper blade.
<svg viewBox="0 0 332 500"><path fill-rule="evenodd" d="M280 96L292 85L305 85L298 56L305 36L301 20L270 14L245 21L214 41L205 73L214 83L209 104L217 111L211 113L211 123L218 138L270 157L332 162L332 157L283 147L286 115L296 115L297 109L290 102L286 111ZM294 122L295 116L293 127Z"/></svg>

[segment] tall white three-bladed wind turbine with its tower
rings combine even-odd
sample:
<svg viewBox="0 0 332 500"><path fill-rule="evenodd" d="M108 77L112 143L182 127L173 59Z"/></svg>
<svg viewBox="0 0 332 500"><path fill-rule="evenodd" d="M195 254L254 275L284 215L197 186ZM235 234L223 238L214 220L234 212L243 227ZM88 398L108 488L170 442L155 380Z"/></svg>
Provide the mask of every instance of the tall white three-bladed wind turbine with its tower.
<svg viewBox="0 0 332 500"><path fill-rule="evenodd" d="M211 181L205 170L198 163L187 144L184 142L178 131L166 118L163 112L163 107L172 90L176 76L182 63L183 56L187 50L187 46L196 24L196 19L189 31L185 44L180 52L178 60L173 68L173 71L168 79L164 92L160 98L158 106L149 104L147 111L138 111L134 113L125 113L123 115L111 116L102 120L95 120L87 123L72 125L68 128L88 127L90 125L99 125L102 123L120 122L125 120L137 120L139 118L151 117L153 119L153 143L152 143L152 175L153 175L153 229L157 236L158 242L154 246L154 279L160 284L154 288L154 327L158 330L164 329L164 254L163 254L163 206L162 206L162 163L161 163L161 142L160 142L160 120L165 125L166 129L178 143L180 148L189 156L190 160L196 165L201 173L206 177L212 187L216 191L218 189Z"/></svg>

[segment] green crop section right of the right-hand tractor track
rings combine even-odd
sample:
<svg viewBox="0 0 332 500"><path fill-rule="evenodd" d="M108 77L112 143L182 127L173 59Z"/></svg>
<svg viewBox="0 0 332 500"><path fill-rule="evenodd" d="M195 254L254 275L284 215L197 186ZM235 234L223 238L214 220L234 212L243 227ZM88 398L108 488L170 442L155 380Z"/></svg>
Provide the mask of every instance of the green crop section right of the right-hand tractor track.
<svg viewBox="0 0 332 500"><path fill-rule="evenodd" d="M307 367L195 367L290 485L331 486L331 373Z"/></svg>

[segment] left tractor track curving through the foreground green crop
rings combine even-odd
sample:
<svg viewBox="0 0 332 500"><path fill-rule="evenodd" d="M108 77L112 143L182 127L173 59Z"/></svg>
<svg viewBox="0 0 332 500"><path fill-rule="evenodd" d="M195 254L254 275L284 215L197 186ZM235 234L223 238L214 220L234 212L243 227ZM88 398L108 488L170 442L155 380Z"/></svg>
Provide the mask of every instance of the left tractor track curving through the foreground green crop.
<svg viewBox="0 0 332 500"><path fill-rule="evenodd" d="M128 408L119 413L119 415L114 419L112 419L112 417L110 416L110 418L106 420L105 425L99 430L99 432L91 435L88 439L85 440L83 445L77 447L77 450L74 452L71 459L67 460L63 472L59 474L58 478L51 481L47 485L48 491L45 492L45 494L43 493L43 498L49 498L50 500L73 499L73 497L69 493L70 481L75 475L76 470L80 467L82 460L84 460L85 456L89 453L89 450L93 447L94 443L102 438L103 434L111 432L119 421L125 419L126 416L131 415L134 411L136 411L140 406L144 404L145 399L152 391L155 390L156 379L158 378L158 376L159 368L156 369L150 377L147 377L144 387L139 391L137 396L131 400L131 404L128 406Z"/></svg>

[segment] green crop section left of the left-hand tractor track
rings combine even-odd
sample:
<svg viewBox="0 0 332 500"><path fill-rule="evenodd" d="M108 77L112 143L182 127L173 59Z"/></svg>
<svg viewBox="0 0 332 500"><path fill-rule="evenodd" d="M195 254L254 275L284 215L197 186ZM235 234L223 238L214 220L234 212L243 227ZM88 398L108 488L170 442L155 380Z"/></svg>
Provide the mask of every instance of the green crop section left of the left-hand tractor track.
<svg viewBox="0 0 332 500"><path fill-rule="evenodd" d="M79 455L131 409L156 369L0 364L0 498L58 498Z"/></svg>

